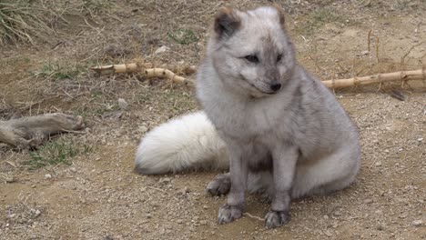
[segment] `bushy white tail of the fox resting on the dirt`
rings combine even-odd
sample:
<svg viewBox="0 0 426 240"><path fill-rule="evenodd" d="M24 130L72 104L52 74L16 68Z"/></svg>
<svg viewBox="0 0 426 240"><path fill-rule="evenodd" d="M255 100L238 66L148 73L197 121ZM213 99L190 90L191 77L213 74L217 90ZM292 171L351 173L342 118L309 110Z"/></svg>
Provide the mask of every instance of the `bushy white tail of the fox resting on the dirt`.
<svg viewBox="0 0 426 240"><path fill-rule="evenodd" d="M225 143L204 112L183 115L159 125L137 148L140 174L176 173L187 169L228 168Z"/></svg>

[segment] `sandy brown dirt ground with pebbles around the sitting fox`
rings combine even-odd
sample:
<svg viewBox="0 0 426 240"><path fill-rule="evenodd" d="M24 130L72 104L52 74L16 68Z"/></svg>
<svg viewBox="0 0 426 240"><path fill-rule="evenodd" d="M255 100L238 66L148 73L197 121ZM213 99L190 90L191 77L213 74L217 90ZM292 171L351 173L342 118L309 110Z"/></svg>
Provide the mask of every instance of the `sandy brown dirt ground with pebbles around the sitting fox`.
<svg viewBox="0 0 426 240"><path fill-rule="evenodd" d="M86 21L66 15L68 25L49 43L1 45L0 120L82 115L86 129L60 139L90 150L70 165L32 170L25 165L31 153L0 145L0 239L426 239L424 82L335 91L360 128L360 175L339 193L295 201L289 225L278 229L258 219L269 206L256 196L246 212L258 218L218 225L225 198L204 191L218 173L133 172L140 137L197 110L194 92L141 75L96 76L88 67L135 58L198 65L220 6L271 2L116 1ZM274 2L288 13L299 62L323 80L426 68L423 0ZM188 41L173 38L179 31ZM118 98L128 104L120 117Z"/></svg>

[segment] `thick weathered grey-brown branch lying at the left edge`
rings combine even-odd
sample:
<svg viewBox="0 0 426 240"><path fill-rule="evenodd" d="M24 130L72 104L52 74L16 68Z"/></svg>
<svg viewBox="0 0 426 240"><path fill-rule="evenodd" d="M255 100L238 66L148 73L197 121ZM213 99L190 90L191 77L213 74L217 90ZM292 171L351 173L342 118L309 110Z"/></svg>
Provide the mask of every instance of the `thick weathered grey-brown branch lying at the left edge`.
<svg viewBox="0 0 426 240"><path fill-rule="evenodd" d="M0 121L0 142L18 149L41 145L50 135L72 132L84 127L83 117L46 114Z"/></svg>

